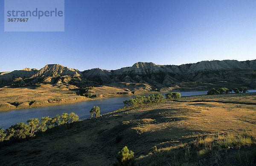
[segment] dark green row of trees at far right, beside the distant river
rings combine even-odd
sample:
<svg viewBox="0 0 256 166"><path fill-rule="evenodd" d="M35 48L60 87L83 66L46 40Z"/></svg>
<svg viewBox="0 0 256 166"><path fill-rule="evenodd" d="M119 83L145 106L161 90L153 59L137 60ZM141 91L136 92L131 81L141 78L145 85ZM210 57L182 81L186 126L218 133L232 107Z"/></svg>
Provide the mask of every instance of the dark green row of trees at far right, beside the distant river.
<svg viewBox="0 0 256 166"><path fill-rule="evenodd" d="M240 88L234 88L234 89L227 89L227 88L219 88L214 89L212 88L207 92L207 94L228 94L228 93L245 93L248 92L248 89L246 86L241 86Z"/></svg>

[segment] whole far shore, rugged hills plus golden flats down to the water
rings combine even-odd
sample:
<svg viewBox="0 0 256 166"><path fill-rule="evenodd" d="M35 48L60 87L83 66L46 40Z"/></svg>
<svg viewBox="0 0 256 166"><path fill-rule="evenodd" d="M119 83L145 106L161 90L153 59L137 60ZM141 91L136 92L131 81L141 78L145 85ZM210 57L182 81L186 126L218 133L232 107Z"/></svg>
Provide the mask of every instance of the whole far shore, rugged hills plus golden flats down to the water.
<svg viewBox="0 0 256 166"><path fill-rule="evenodd" d="M0 111L74 103L91 98L211 88L256 88L256 60L192 64L135 63L80 72L58 64L0 73ZM94 88L92 88L94 86Z"/></svg>

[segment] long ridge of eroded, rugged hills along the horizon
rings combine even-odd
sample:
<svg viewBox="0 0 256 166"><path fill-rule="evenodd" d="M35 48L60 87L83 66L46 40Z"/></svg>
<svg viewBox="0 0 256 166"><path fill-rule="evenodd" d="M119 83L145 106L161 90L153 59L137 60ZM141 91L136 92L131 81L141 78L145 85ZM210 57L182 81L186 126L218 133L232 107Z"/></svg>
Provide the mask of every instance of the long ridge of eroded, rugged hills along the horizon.
<svg viewBox="0 0 256 166"><path fill-rule="evenodd" d="M58 64L42 69L0 73L1 86L32 86L40 83L86 86L144 83L152 89L164 87L204 89L248 86L256 88L256 60L214 60L183 65L156 65L138 62L117 70L90 69L80 72Z"/></svg>

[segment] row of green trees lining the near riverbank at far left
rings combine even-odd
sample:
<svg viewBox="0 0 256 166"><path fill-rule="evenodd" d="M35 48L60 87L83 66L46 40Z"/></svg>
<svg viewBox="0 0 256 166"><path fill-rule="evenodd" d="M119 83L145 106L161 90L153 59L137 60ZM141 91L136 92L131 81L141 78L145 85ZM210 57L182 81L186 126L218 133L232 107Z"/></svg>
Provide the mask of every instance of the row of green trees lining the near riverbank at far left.
<svg viewBox="0 0 256 166"><path fill-rule="evenodd" d="M42 117L41 120L38 118L32 118L27 120L27 124L20 122L12 125L8 129L4 130L0 128L0 143L9 140L21 140L28 139L29 137L34 137L36 132L41 132L44 136L44 132L47 129L51 129L54 126L67 124L67 128L71 128L71 124L79 120L79 116L74 112L63 113L60 115L55 115L55 117L50 118Z"/></svg>

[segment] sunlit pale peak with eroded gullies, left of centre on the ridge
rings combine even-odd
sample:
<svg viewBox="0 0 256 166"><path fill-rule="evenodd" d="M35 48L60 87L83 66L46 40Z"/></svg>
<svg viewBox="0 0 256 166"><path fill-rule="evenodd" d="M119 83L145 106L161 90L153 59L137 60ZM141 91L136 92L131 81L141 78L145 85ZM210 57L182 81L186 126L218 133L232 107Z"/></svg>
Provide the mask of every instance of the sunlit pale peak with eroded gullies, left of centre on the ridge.
<svg viewBox="0 0 256 166"><path fill-rule="evenodd" d="M51 64L51 65L44 66L36 74L32 75L31 78L57 77L57 76L65 76L65 75L83 77L83 74L77 69L70 69L58 64Z"/></svg>

